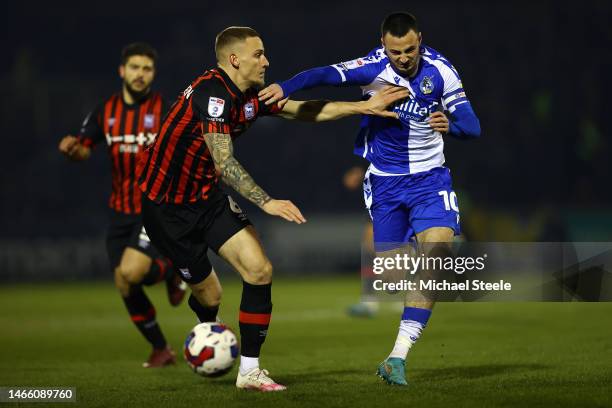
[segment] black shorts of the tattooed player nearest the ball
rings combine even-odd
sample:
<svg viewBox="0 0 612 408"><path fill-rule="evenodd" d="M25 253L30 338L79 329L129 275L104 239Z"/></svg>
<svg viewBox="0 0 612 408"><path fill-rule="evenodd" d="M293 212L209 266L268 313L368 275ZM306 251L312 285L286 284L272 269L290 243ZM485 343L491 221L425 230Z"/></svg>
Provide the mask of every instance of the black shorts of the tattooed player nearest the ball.
<svg viewBox="0 0 612 408"><path fill-rule="evenodd" d="M157 204L142 197L143 223L159 251L170 258L187 283L199 283L212 270L206 254L251 222L238 204L216 189L207 200L187 204Z"/></svg>

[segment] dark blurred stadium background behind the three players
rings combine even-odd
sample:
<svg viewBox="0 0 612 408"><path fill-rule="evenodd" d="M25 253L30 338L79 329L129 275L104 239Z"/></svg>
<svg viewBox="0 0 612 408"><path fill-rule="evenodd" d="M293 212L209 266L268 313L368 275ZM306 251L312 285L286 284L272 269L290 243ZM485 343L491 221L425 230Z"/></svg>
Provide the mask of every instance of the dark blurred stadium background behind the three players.
<svg viewBox="0 0 612 408"><path fill-rule="evenodd" d="M45 270L56 277L107 273L106 151L100 146L75 164L57 145L120 89L125 44L158 49L154 87L173 101L215 65L214 37L229 25L261 34L273 82L364 56L379 44L382 19L398 10L415 14L424 43L458 69L481 121L480 140L447 139L445 149L467 238L610 240L611 2L21 2L0 24L0 280ZM294 97L357 100L360 91ZM287 270L359 262L367 217L360 192L342 185L344 172L361 163L352 155L358 120L265 118L237 143L255 180L311 221L284 225L245 205L272 259Z"/></svg>

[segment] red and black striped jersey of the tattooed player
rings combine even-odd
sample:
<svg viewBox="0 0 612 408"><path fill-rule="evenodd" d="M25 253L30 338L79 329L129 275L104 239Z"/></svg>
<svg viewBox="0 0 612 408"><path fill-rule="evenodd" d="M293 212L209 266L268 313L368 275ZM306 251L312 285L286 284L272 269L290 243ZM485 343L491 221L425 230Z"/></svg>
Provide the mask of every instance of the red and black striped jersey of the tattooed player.
<svg viewBox="0 0 612 408"><path fill-rule="evenodd" d="M277 104L260 104L255 89L240 91L221 68L204 72L179 95L141 157L140 189L157 203L206 200L218 178L204 135L226 133L234 140L258 116L279 111Z"/></svg>

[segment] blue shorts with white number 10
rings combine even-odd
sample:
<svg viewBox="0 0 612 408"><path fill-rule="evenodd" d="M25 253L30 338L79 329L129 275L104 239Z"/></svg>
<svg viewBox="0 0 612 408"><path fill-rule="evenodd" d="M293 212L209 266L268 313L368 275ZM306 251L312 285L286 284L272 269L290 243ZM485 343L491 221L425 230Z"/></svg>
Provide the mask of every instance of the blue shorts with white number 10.
<svg viewBox="0 0 612 408"><path fill-rule="evenodd" d="M377 176L368 170L363 193L377 245L407 243L432 227L461 233L457 195L446 167L404 176Z"/></svg>

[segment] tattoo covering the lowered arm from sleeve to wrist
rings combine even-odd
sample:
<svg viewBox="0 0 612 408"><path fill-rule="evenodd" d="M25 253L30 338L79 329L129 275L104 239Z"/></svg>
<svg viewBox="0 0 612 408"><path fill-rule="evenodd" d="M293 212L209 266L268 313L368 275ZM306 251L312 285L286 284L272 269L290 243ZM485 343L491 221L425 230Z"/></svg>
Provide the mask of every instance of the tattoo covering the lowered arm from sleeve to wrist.
<svg viewBox="0 0 612 408"><path fill-rule="evenodd" d="M210 149L213 161L221 170L221 178L224 182L259 207L271 200L270 196L255 183L253 177L234 158L234 146L230 135L208 133L204 136L204 140Z"/></svg>

